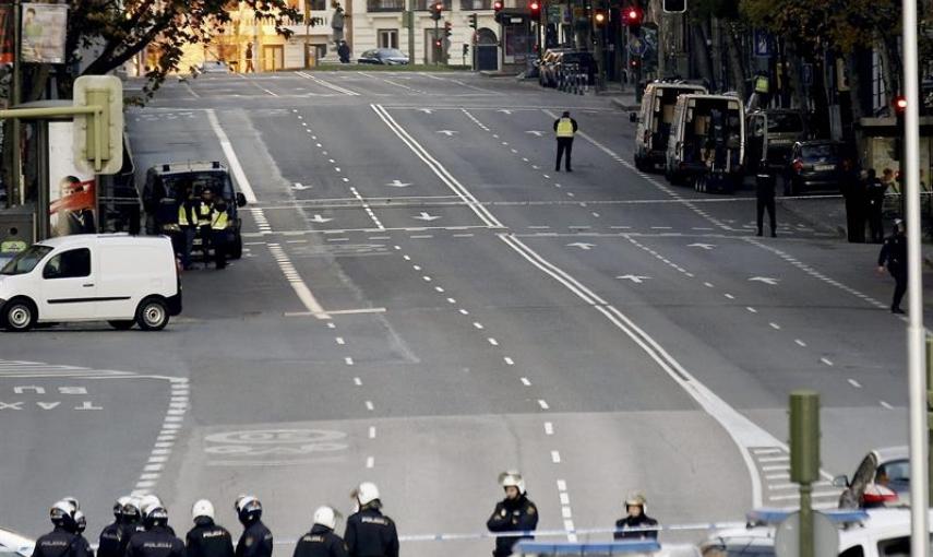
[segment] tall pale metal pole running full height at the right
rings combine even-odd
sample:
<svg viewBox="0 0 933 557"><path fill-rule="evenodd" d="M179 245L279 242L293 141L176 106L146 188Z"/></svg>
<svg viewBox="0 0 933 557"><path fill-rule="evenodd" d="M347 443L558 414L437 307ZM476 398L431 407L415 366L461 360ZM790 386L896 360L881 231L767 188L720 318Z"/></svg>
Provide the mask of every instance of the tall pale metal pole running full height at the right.
<svg viewBox="0 0 933 557"><path fill-rule="evenodd" d="M905 156L901 173L906 176L907 199L907 372L910 407L910 554L929 555L930 530L926 496L928 424L926 376L923 358L923 276L920 252L920 84L918 83L917 0L901 0L904 45ZM905 168L906 167L906 168ZM906 169L906 173L904 171Z"/></svg>

